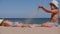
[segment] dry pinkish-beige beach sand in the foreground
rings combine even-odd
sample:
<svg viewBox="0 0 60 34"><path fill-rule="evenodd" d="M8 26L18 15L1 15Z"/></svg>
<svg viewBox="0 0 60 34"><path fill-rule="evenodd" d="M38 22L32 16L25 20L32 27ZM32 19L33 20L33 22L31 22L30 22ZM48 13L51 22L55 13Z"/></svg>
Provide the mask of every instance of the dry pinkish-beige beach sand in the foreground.
<svg viewBox="0 0 60 34"><path fill-rule="evenodd" d="M2 27L0 26L0 34L60 34L60 26L47 28L47 27Z"/></svg>

